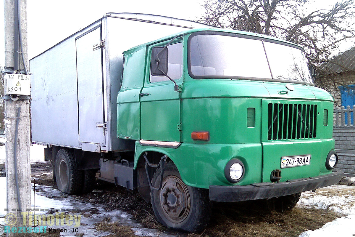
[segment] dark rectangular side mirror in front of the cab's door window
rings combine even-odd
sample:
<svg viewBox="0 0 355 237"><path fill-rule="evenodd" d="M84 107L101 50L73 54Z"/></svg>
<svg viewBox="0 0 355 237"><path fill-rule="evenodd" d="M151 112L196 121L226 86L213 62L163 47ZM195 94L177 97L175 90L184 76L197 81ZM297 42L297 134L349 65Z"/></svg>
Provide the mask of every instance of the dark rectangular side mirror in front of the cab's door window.
<svg viewBox="0 0 355 237"><path fill-rule="evenodd" d="M152 49L151 74L153 76L166 76L168 74L168 53L166 47L154 47Z"/></svg>

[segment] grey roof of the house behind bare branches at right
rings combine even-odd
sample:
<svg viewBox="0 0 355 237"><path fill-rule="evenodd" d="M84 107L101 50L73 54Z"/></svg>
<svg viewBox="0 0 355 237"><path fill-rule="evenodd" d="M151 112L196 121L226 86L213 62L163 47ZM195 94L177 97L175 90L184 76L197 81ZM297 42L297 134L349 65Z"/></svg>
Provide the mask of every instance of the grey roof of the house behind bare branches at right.
<svg viewBox="0 0 355 237"><path fill-rule="evenodd" d="M355 71L355 47L329 60L328 63L322 65L322 68L327 68L331 72L338 74Z"/></svg>

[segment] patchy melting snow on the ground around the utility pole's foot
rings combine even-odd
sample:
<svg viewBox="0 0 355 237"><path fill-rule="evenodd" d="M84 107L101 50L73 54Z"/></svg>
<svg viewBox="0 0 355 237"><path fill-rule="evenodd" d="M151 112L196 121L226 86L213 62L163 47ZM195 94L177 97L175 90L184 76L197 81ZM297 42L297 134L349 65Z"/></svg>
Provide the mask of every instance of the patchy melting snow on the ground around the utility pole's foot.
<svg viewBox="0 0 355 237"><path fill-rule="evenodd" d="M0 177L0 190L5 190L6 188L6 177ZM59 190L44 186L35 185L31 183L31 202L32 209L35 207L39 210L35 214L53 214L56 212L65 212L66 214L80 215L80 226L75 226L78 228L78 233L84 233L83 237L96 237L96 236L106 236L110 233L107 231L96 231L95 224L103 220L108 220L112 223L121 223L122 225L127 225L133 227L133 231L137 236L161 236L161 237L174 237L173 235L167 235L165 233L159 232L158 230L142 228L140 223L133 220L133 216L124 211L113 210L106 211L103 206L95 205L90 203L82 203L73 199L71 196L63 194ZM33 190L35 188L35 192ZM6 195L0 195L0 226L5 225L4 216L6 215ZM65 224L67 223L65 219L61 219ZM78 220L78 219L77 219ZM48 224L48 222L47 222ZM70 231L70 228L74 226L63 226L56 225L54 223L48 228L66 228L67 233L61 233L60 236L74 236L75 233ZM0 228L4 231L4 228Z"/></svg>

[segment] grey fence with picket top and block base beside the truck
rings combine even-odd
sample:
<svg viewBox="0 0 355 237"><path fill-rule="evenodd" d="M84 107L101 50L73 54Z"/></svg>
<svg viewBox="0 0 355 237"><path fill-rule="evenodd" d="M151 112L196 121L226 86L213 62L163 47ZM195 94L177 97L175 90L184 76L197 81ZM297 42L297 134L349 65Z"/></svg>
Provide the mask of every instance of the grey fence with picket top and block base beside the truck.
<svg viewBox="0 0 355 237"><path fill-rule="evenodd" d="M355 176L355 105L335 107L333 138L339 155L337 169L346 176Z"/></svg>

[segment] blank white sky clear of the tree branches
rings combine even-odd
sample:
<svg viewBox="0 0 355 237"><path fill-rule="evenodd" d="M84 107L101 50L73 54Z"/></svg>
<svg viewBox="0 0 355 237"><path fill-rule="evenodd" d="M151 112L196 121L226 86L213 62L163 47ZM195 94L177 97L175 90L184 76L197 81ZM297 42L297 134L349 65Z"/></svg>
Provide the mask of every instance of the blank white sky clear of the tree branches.
<svg viewBox="0 0 355 237"><path fill-rule="evenodd" d="M27 0L29 58L42 53L107 12L135 12L195 20L204 14L204 0ZM314 0L311 8L328 8L336 0ZM3 9L0 1L0 9ZM311 9L310 9L311 10ZM312 9L313 10L313 9ZM4 12L0 11L0 18ZM0 28L4 29L3 21ZM4 31L0 31L0 51L4 52ZM352 45L344 47L344 50ZM4 55L0 56L0 66Z"/></svg>

